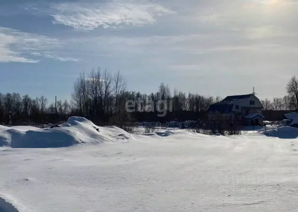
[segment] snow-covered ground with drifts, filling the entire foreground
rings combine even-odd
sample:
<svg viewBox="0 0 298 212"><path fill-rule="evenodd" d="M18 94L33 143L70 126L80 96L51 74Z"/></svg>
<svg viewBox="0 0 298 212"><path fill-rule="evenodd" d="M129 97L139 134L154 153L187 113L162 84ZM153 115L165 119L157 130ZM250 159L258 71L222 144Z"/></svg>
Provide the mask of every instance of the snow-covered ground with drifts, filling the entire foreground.
<svg viewBox="0 0 298 212"><path fill-rule="evenodd" d="M297 211L297 131L132 135L78 117L0 126L0 211Z"/></svg>

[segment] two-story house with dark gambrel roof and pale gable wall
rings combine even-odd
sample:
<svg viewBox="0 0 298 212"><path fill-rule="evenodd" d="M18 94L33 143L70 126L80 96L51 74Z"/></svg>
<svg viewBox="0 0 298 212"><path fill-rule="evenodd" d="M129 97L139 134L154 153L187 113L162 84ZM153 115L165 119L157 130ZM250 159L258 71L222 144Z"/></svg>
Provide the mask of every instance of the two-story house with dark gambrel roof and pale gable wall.
<svg viewBox="0 0 298 212"><path fill-rule="evenodd" d="M225 118L226 121L239 125L262 125L263 105L254 94L228 96L220 102L210 105L208 121Z"/></svg>

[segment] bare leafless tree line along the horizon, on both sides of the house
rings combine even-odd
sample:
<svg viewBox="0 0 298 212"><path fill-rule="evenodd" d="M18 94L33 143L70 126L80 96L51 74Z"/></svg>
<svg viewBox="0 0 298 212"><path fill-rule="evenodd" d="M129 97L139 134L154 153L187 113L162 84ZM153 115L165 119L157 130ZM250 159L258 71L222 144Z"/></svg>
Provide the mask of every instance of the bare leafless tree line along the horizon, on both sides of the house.
<svg viewBox="0 0 298 212"><path fill-rule="evenodd" d="M283 98L261 100L265 111L298 109L298 80L295 76L290 79L286 88L288 95ZM128 100L135 101L136 110L132 113L125 109ZM164 117L158 117L158 112L154 111L160 100L165 100L160 106L167 110ZM120 125L120 122L135 121L164 122L172 119L204 120L208 107L220 100L221 97L187 94L176 89L171 92L164 83L160 83L155 93L128 91L127 82L119 70L109 72L98 68L79 75L74 82L70 100L49 103L44 96L32 98L18 93L0 93L0 123L57 123L72 115L83 116L98 125Z"/></svg>

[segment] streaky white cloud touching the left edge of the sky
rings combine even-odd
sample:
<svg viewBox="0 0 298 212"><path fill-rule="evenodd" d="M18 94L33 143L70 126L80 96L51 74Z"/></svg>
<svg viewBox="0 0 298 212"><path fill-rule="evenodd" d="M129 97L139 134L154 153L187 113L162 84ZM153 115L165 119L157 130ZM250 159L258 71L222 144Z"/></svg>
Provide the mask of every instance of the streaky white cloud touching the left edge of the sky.
<svg viewBox="0 0 298 212"><path fill-rule="evenodd" d="M38 63L30 57L44 57L60 61L76 61L71 57L59 57L49 50L57 50L62 44L54 38L20 32L0 27L0 62Z"/></svg>

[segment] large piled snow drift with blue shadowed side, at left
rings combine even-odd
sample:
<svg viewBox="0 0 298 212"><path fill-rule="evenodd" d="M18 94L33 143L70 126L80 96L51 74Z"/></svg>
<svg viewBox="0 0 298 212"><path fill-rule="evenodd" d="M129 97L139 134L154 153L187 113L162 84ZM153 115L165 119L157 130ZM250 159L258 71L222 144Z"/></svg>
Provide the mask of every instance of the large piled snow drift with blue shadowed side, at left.
<svg viewBox="0 0 298 212"><path fill-rule="evenodd" d="M82 117L70 117L53 128L5 127L0 125L0 146L12 148L57 148L128 140L131 135L117 127L102 128Z"/></svg>

